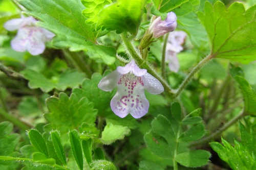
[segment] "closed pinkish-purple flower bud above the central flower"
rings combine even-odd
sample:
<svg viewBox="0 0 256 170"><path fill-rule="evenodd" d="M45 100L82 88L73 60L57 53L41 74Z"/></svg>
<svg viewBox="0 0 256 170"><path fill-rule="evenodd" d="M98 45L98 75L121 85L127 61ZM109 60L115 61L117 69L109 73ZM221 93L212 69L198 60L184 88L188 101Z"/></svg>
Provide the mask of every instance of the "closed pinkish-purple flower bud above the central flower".
<svg viewBox="0 0 256 170"><path fill-rule="evenodd" d="M168 32L172 32L177 27L177 17L174 12L169 12L165 20L162 20L161 17L157 17L152 22L152 25L148 29L150 33L153 33L153 38L158 38Z"/></svg>

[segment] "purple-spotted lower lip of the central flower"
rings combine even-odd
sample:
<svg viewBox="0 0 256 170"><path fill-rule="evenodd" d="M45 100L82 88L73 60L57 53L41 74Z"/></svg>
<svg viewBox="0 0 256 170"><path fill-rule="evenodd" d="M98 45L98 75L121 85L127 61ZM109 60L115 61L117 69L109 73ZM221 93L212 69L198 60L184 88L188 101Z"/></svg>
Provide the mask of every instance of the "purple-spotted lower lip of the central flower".
<svg viewBox="0 0 256 170"><path fill-rule="evenodd" d="M145 98L142 78L131 73L122 75L118 81L117 93L110 105L119 117L125 117L129 113L134 118L145 115L148 112L149 103Z"/></svg>

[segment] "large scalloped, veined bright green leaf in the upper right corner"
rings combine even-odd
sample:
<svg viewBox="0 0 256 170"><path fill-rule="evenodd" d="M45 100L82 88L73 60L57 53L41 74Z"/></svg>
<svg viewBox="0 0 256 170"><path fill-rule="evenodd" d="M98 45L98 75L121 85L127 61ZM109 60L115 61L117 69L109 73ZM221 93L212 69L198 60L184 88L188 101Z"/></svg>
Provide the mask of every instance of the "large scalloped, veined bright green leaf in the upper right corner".
<svg viewBox="0 0 256 170"><path fill-rule="evenodd" d="M222 2L212 7L205 3L198 17L204 25L211 46L211 55L248 63L256 59L256 6L245 11L242 3L226 9Z"/></svg>

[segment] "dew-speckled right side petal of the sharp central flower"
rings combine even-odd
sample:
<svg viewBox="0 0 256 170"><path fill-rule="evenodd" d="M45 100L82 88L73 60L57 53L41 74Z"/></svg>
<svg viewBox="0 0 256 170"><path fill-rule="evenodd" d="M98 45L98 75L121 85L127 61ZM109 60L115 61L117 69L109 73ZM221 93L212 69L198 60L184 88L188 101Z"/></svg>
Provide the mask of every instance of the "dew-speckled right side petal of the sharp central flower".
<svg viewBox="0 0 256 170"><path fill-rule="evenodd" d="M146 73L142 76L142 81L144 83L145 89L152 94L160 94L163 92L163 85L153 77L151 74Z"/></svg>

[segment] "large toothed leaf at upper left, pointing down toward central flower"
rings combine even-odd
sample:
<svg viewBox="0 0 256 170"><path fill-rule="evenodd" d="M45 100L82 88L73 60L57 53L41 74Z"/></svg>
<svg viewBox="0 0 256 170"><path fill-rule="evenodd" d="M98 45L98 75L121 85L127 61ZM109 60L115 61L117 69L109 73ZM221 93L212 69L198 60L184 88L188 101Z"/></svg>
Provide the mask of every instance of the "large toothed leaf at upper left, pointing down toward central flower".
<svg viewBox="0 0 256 170"><path fill-rule="evenodd" d="M81 11L84 10L80 0L70 1L19 1L29 11L29 15L38 18L37 25L56 34L52 43L56 47L70 47L71 51L86 50L93 59L111 65L115 62L116 50L113 47L96 44L100 34L92 32L85 23ZM73 4L73 5L71 5ZM52 10L54 9L54 10Z"/></svg>

